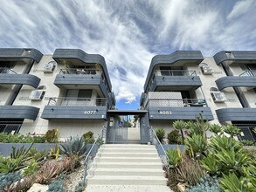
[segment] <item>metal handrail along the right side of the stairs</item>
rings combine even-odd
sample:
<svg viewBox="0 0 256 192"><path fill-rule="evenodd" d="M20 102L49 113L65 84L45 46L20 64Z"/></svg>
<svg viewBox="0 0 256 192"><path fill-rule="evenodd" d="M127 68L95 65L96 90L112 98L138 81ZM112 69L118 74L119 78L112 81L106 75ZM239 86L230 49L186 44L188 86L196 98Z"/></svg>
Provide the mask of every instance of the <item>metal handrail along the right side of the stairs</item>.
<svg viewBox="0 0 256 192"><path fill-rule="evenodd" d="M157 153L161 158L161 161L163 162L163 167L167 170L169 166L168 156L163 148L162 143L158 140L158 137L156 136L156 132L153 127L149 127L149 140L151 144L156 146Z"/></svg>

